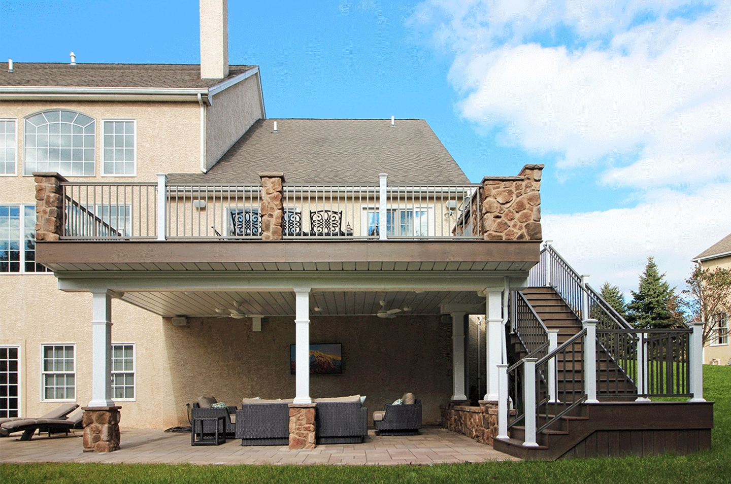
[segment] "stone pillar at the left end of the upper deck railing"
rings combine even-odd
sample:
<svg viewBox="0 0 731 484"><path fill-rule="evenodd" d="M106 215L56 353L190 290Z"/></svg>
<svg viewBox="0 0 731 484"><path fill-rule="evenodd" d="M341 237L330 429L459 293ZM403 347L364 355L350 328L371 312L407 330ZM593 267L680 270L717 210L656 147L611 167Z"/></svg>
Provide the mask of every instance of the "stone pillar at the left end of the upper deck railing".
<svg viewBox="0 0 731 484"><path fill-rule="evenodd" d="M64 192L58 173L33 173L36 182L36 240L58 241L64 234Z"/></svg>

